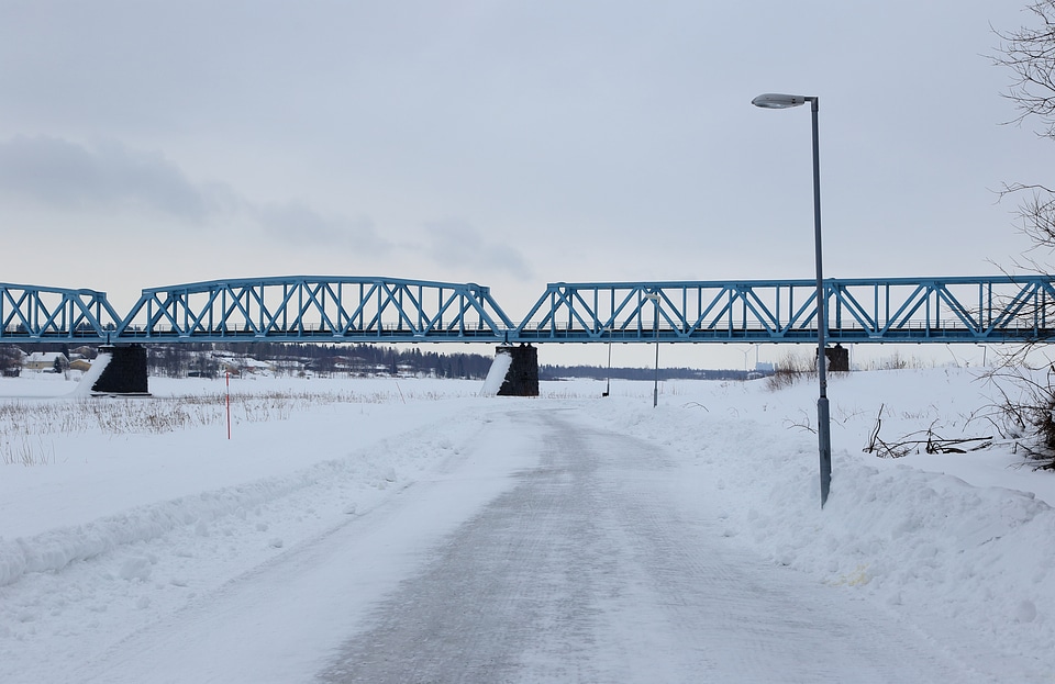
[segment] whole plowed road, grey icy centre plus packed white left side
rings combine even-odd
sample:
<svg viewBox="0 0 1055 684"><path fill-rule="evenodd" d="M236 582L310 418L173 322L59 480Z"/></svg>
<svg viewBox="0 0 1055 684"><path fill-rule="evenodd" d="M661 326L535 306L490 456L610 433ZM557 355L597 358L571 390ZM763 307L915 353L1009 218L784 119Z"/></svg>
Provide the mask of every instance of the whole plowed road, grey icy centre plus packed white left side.
<svg viewBox="0 0 1055 684"><path fill-rule="evenodd" d="M751 556L662 448L575 417L493 414L440 472L112 647L84 681L989 681Z"/></svg>

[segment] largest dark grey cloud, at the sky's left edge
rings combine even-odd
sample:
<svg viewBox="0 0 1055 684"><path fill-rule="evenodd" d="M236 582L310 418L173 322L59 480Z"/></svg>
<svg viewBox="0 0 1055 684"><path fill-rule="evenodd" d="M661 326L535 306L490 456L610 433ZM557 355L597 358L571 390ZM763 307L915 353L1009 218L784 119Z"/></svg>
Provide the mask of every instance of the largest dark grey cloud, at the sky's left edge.
<svg viewBox="0 0 1055 684"><path fill-rule="evenodd" d="M195 183L160 154L48 136L0 143L0 192L52 209L127 206L191 222L220 211L226 194L221 186Z"/></svg>

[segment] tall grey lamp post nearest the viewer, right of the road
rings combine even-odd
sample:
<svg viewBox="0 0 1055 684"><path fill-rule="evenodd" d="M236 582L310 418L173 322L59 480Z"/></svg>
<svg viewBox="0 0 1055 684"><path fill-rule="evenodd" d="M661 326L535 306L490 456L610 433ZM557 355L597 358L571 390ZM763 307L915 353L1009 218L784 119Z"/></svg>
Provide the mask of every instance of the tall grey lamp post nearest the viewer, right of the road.
<svg viewBox="0 0 1055 684"><path fill-rule="evenodd" d="M817 437L820 447L821 508L828 502L832 484L832 434L828 406L828 359L824 356L824 336L828 328L828 302L824 296L824 271L821 267L821 161L818 143L818 98L767 92L751 101L763 109L788 109L810 103L813 114L813 248L817 262L817 378L820 396L817 400Z"/></svg>

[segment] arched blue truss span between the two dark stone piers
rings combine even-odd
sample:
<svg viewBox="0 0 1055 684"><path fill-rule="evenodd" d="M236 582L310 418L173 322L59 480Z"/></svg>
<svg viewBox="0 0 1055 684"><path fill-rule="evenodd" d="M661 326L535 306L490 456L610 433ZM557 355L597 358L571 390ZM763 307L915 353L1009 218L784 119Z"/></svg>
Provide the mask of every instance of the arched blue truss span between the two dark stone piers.
<svg viewBox="0 0 1055 684"><path fill-rule="evenodd" d="M512 327L488 288L380 278L289 277L144 290L122 339L427 341L500 338Z"/></svg>

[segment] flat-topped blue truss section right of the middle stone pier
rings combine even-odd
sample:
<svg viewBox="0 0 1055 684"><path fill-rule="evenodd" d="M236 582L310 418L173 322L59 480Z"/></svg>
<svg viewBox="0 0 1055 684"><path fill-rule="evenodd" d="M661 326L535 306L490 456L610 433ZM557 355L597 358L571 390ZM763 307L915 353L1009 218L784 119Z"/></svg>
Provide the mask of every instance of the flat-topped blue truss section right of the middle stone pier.
<svg viewBox="0 0 1055 684"><path fill-rule="evenodd" d="M832 341L1022 341L1055 334L1053 279L831 279ZM520 341L799 341L817 337L817 282L552 283Z"/></svg>

